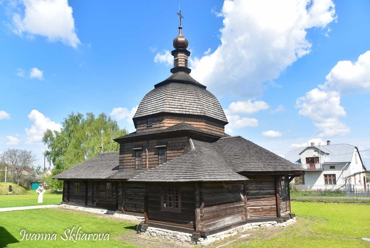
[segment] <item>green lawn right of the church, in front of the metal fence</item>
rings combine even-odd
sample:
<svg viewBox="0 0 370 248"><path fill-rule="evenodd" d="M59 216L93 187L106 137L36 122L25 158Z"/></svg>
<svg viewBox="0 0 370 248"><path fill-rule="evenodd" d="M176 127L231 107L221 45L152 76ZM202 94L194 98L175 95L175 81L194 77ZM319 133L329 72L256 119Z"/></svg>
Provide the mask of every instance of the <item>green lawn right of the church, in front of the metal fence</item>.
<svg viewBox="0 0 370 248"><path fill-rule="evenodd" d="M260 231L229 247L370 247L370 205L292 202L298 222ZM248 233L248 231L247 231ZM215 244L217 246L219 244Z"/></svg>

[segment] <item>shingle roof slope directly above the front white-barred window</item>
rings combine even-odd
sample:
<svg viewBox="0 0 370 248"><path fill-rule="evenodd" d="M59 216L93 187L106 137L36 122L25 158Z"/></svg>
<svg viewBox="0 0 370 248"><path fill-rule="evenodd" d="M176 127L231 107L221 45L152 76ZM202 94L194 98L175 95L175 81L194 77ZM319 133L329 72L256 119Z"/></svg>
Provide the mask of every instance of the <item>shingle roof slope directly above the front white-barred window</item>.
<svg viewBox="0 0 370 248"><path fill-rule="evenodd" d="M192 140L194 149L145 171L128 181L189 182L239 181L248 178L233 171L215 143Z"/></svg>

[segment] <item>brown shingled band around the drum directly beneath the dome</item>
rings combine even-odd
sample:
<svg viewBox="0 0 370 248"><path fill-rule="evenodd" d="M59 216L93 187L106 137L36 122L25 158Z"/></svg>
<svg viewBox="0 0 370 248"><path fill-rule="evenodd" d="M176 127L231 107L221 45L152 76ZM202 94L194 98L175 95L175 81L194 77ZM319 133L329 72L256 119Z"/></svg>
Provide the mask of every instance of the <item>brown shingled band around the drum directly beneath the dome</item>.
<svg viewBox="0 0 370 248"><path fill-rule="evenodd" d="M215 133L225 134L225 125L214 121L205 120L199 117L180 117L176 115L162 115L153 118L153 125L147 126L147 118L139 119L137 121L137 133L145 133L154 130L163 130L178 123L188 123L200 130Z"/></svg>

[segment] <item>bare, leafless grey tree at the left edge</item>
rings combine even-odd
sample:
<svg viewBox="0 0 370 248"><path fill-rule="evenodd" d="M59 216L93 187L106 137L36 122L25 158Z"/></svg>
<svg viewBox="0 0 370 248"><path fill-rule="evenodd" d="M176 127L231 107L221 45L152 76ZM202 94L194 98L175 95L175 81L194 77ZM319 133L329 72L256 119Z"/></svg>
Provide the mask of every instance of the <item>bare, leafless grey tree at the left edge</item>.
<svg viewBox="0 0 370 248"><path fill-rule="evenodd" d="M16 184L21 185L22 178L31 171L36 164L37 157L32 151L21 149L7 149L0 155L0 164L4 164L8 169L13 169L13 179Z"/></svg>

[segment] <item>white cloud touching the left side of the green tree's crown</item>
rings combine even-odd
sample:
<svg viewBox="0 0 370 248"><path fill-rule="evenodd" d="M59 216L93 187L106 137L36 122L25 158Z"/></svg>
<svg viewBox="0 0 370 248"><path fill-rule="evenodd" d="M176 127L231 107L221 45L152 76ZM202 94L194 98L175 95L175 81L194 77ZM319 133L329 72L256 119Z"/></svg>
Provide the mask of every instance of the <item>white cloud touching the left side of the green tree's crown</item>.
<svg viewBox="0 0 370 248"><path fill-rule="evenodd" d="M47 129L59 131L60 128L62 128L59 123L51 121L36 109L32 110L31 113L28 114L28 119L31 122L31 128L25 128L27 134L26 144L41 143L44 132Z"/></svg>

